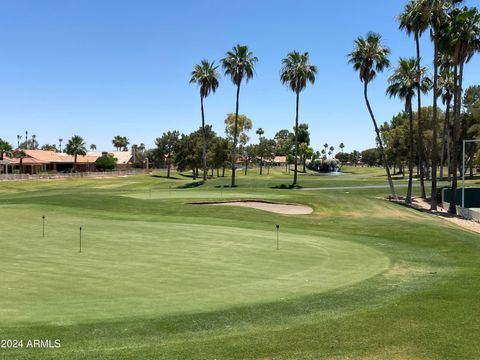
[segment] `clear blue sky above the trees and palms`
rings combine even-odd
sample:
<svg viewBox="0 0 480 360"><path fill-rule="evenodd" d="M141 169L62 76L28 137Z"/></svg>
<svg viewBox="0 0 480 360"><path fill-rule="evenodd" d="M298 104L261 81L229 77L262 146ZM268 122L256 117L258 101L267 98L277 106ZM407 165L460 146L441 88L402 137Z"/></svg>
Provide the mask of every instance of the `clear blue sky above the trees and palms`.
<svg viewBox="0 0 480 360"><path fill-rule="evenodd" d="M240 112L268 137L291 129L295 98L279 82L280 61L308 51L318 66L316 84L302 93L300 121L310 125L314 148L325 142L346 150L374 145L358 76L347 64L353 39L380 32L399 56L413 56L413 39L398 30L403 0L150 1L2 0L0 2L0 137L16 144L28 130L41 144L72 134L111 149L115 135L153 146L167 130L200 125L193 65L216 60L237 43L259 58L256 76L242 88ZM466 1L480 6L480 0ZM429 37L422 39L431 63ZM465 84L480 84L480 55L468 64ZM402 109L385 96L386 78L370 89L378 120ZM429 97L428 101L431 99ZM235 89L222 78L205 101L218 133L235 109ZM256 139L255 139L256 140Z"/></svg>

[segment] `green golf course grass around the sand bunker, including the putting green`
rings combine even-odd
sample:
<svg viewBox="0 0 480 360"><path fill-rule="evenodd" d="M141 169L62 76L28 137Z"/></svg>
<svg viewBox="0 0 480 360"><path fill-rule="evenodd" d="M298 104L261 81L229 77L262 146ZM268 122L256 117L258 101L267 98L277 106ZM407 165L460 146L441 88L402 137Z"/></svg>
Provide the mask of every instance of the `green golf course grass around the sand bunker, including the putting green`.
<svg viewBox="0 0 480 360"><path fill-rule="evenodd" d="M386 184L348 170L300 184ZM386 188L278 188L290 181L0 183L0 339L62 342L0 358L480 358L478 234L388 203ZM189 204L245 198L314 213Z"/></svg>

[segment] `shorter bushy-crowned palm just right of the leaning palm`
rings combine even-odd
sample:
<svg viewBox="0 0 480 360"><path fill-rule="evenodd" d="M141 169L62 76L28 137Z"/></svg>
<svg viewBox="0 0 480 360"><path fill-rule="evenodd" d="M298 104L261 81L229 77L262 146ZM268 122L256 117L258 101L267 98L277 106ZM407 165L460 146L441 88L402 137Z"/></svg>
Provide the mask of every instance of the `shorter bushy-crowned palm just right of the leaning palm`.
<svg viewBox="0 0 480 360"><path fill-rule="evenodd" d="M413 184L413 109L412 99L415 95L420 97L418 89L421 92L426 93L432 86L432 81L426 76L427 68L420 67L420 76L418 75L418 60L415 58L404 59L400 58L398 66L395 72L388 79L390 85L387 88L387 94L390 97L397 96L405 101L405 110L409 115L409 159L408 159L408 189L407 196L405 197L405 203L412 203L412 184ZM420 79L420 84L418 84Z"/></svg>

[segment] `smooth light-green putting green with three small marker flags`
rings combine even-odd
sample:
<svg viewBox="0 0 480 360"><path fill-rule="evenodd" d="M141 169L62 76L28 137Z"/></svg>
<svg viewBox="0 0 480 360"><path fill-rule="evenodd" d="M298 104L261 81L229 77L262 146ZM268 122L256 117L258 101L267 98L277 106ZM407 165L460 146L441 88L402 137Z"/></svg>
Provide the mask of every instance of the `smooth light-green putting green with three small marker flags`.
<svg viewBox="0 0 480 360"><path fill-rule="evenodd" d="M159 316L278 301L346 286L389 259L350 241L181 223L102 220L0 207L0 322ZM12 221L14 220L14 221ZM21 224L22 226L18 226ZM83 252L79 253L79 226Z"/></svg>

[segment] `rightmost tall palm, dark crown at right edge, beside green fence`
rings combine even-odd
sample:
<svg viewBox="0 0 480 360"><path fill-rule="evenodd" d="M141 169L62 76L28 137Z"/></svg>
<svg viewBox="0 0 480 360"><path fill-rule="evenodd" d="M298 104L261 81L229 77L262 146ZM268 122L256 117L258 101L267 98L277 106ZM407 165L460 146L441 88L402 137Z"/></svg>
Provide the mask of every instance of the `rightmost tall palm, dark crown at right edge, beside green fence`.
<svg viewBox="0 0 480 360"><path fill-rule="evenodd" d="M449 13L448 23L449 53L451 54L454 68L455 94L453 126L453 154L452 154L452 197L448 212L456 214L456 189L458 186L458 143L460 130L460 112L463 93L463 70L475 52L480 51L480 13L477 8L453 9ZM463 171L463 169L462 169Z"/></svg>

